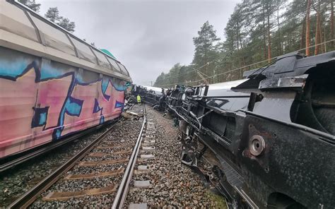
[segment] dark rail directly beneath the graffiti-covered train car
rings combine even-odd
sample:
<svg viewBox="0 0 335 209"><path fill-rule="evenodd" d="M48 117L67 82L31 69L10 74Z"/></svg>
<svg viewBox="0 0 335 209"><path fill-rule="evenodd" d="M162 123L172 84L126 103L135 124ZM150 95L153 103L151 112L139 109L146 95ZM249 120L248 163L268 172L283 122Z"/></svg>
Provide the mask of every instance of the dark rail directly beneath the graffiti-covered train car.
<svg viewBox="0 0 335 209"><path fill-rule="evenodd" d="M32 152L29 152L29 150L28 150L28 151L25 151L23 153L19 153L18 155L23 155L23 156L13 158L13 160L10 160L8 162L4 162L2 165L0 165L0 174L5 172L8 169L11 169L12 167L14 167L16 165L20 165L21 163L23 163L27 160L30 160L30 159L33 159L34 157L37 157L37 156L43 155L45 153L48 153L49 151L51 151L55 148L58 148L61 145L65 145L66 143L70 143L71 141L75 141L76 139L78 139L82 136L86 136L88 133L92 133L93 131L101 129L102 127L104 127L106 125L107 124L102 124L102 125L95 126L93 128L87 129L85 131L81 131L80 133L77 133L73 136L69 136L69 138L65 138L65 139L60 140L56 143L52 143L51 145L42 145L42 146L45 146L45 147L42 147L42 148L37 147L37 148L35 148L37 150L34 150ZM15 156L13 156L13 157L15 157Z"/></svg>

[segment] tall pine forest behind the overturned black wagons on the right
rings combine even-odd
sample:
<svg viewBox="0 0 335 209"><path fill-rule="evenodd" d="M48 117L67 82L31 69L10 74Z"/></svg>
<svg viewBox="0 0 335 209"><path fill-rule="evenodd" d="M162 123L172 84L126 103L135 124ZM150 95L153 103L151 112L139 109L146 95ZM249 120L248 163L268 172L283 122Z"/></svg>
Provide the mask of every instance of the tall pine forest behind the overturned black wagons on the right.
<svg viewBox="0 0 335 209"><path fill-rule="evenodd" d="M282 54L300 50L312 56L334 50L334 1L243 0L230 15L224 35L221 41L213 25L204 23L193 38L192 63L175 64L154 86L237 80L244 71Z"/></svg>

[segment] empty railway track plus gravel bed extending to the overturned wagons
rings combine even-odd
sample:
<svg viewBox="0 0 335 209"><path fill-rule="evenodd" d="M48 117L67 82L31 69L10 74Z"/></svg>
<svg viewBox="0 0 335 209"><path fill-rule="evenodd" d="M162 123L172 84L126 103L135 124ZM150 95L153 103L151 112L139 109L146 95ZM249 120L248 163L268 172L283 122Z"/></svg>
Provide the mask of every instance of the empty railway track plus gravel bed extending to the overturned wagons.
<svg viewBox="0 0 335 209"><path fill-rule="evenodd" d="M131 112L139 117L146 112L142 108L135 105ZM62 165L53 177L38 179L6 208L222 208L198 175L180 163L178 132L170 119L148 107L144 117L108 131L83 157L67 162L69 168Z"/></svg>

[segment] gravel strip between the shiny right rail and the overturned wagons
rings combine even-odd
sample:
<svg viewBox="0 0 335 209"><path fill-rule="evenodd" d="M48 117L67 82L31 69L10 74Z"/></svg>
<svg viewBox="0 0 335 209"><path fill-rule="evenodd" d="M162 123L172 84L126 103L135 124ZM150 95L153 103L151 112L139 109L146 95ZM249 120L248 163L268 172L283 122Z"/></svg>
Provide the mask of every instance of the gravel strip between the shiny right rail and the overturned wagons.
<svg viewBox="0 0 335 209"><path fill-rule="evenodd" d="M225 199L211 193L210 186L205 186L199 174L180 162L181 143L173 120L151 107L146 110L148 119L155 124L155 150L148 152L155 158L138 162L136 167L153 165L154 168L134 174L133 180L149 180L151 186L146 189L132 187L124 208L130 203L147 203L148 208L225 208Z"/></svg>

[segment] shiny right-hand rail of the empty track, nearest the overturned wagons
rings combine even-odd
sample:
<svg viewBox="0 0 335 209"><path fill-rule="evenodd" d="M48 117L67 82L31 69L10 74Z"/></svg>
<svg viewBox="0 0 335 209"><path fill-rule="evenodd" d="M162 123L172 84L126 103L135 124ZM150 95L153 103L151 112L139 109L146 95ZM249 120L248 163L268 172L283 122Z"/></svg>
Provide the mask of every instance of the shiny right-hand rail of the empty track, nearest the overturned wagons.
<svg viewBox="0 0 335 209"><path fill-rule="evenodd" d="M122 208L124 205L124 201L126 201L127 193L129 191L129 183L131 177L133 176L134 167L136 165L137 155L139 155L139 149L141 147L142 142L142 133L144 126L146 126L146 107L143 104L143 124L141 131L139 133L139 137L137 138L133 153L131 153L131 157L129 159L129 163L127 165L127 169L124 172L124 176L122 177L121 184L119 185L119 189L117 189L117 195L114 198L114 202L112 205L113 209Z"/></svg>

